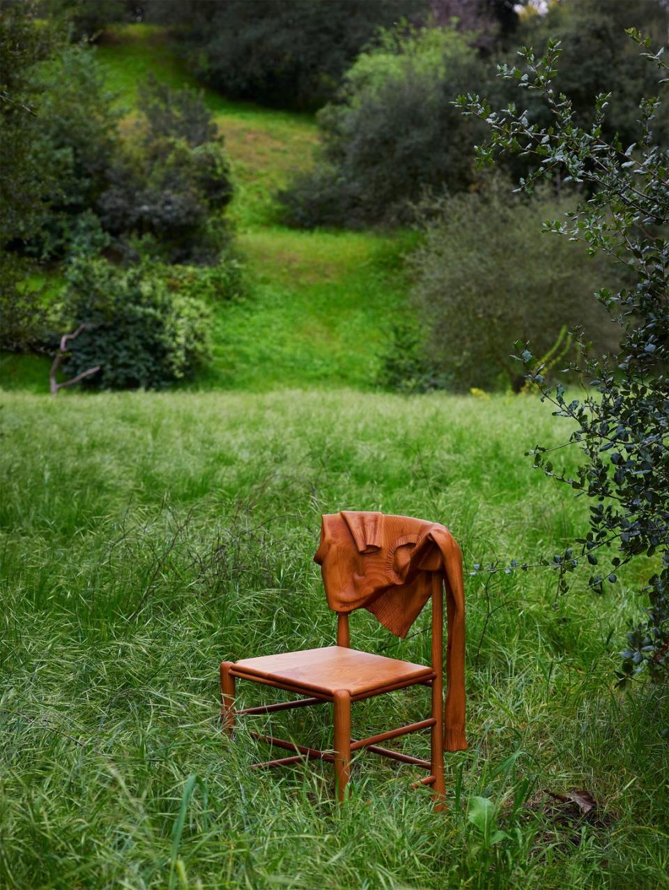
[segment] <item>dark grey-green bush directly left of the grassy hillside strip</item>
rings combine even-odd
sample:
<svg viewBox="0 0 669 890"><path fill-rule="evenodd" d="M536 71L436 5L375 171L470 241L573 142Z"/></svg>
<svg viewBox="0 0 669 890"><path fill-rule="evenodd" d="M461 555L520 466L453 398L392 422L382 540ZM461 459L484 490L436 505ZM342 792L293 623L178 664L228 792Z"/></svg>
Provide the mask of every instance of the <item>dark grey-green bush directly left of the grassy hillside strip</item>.
<svg viewBox="0 0 669 890"><path fill-rule="evenodd" d="M214 262L229 236L230 164L201 96L149 82L98 208L104 228L170 263Z"/></svg>

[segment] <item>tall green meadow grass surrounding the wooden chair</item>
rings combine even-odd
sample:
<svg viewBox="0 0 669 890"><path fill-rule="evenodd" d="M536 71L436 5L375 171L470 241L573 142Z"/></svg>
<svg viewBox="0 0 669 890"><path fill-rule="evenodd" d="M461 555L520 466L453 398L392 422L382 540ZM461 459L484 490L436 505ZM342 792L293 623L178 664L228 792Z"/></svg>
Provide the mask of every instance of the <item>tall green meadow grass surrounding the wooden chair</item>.
<svg viewBox="0 0 669 890"><path fill-rule="evenodd" d="M222 659L331 643L311 556L321 513L446 522L465 564L532 562L587 504L533 472L556 441L536 400L340 392L2 395L0 886L666 886L666 692L613 688L638 603L545 570L467 580L470 749L447 756L447 813L410 766L356 759L258 773L247 718L217 725ZM428 657L428 616L360 648ZM247 702L258 688L239 684ZM424 692L359 704L354 732L423 716ZM323 709L278 734L331 743ZM425 751L426 739L398 742ZM585 789L579 818L546 791ZM467 819L490 797L504 835Z"/></svg>

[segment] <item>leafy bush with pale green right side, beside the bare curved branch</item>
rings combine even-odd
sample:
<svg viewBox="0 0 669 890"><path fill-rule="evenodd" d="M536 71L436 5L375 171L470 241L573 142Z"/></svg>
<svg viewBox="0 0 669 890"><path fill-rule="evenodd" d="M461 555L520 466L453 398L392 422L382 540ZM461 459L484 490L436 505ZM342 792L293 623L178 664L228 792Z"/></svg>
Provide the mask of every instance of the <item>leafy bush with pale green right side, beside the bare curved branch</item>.
<svg viewBox="0 0 669 890"><path fill-rule="evenodd" d="M71 341L68 376L100 365L85 385L158 389L188 378L209 355L211 318L188 295L188 273L144 261L119 269L102 259L69 270L64 307L69 324L93 325Z"/></svg>

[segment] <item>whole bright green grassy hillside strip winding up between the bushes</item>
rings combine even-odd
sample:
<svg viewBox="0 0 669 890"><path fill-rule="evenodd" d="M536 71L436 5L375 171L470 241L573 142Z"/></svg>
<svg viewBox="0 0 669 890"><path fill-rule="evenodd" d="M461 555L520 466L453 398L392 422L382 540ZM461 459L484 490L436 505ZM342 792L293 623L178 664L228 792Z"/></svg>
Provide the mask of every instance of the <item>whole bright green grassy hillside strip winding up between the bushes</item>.
<svg viewBox="0 0 669 890"><path fill-rule="evenodd" d="M149 73L175 87L196 85L159 28L118 28L99 58L125 109L125 126ZM279 225L272 194L291 172L310 165L317 144L313 117L229 101L212 90L204 96L230 152L231 218L251 293L217 313L214 362L198 385L370 388L392 321L406 303L400 258L410 237Z"/></svg>

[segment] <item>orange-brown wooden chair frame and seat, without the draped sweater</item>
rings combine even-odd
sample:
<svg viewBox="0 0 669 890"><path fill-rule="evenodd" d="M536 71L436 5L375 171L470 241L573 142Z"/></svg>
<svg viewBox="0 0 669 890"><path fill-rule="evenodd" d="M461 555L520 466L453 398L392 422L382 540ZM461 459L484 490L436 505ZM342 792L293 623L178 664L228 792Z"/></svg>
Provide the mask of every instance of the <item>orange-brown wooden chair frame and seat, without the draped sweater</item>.
<svg viewBox="0 0 669 890"><path fill-rule="evenodd" d="M221 718L225 732L232 734L235 717L244 714L270 714L286 708L305 708L333 702L335 711L334 752L305 748L294 742L275 739L273 736L252 732L255 739L262 740L296 752L292 756L281 757L255 767L272 767L298 763L304 759L319 759L334 762L335 788L340 801L346 797L346 785L351 776L351 753L367 748L374 754L391 757L403 763L421 766L429 771L412 788L431 785L433 797L438 801L444 797L444 696L442 678L443 659L443 580L439 572L431 572L431 666L412 664L399 659L384 658L369 652L351 649L349 636L349 616L337 613L337 644L321 649L285 652L280 655L267 655L260 658L242 659L232 663L223 661L221 665ZM235 710L235 681L250 680L286 692L296 692L307 698L263 705L259 708ZM416 684L431 687L431 715L418 723L400 726L387 732L380 732L367 739L351 739L351 702L405 689ZM383 748L379 743L396 739L408 732L430 729L431 757L402 754L399 751Z"/></svg>

